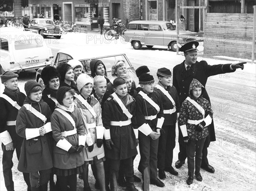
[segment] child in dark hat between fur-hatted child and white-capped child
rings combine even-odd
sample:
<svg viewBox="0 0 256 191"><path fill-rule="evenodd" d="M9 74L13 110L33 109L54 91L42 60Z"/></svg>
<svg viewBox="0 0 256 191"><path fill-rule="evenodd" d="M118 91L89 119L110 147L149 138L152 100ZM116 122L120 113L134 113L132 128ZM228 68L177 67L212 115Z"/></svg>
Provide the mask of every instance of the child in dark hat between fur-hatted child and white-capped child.
<svg viewBox="0 0 256 191"><path fill-rule="evenodd" d="M71 87L76 94L79 94L79 91L77 90L76 82L74 81L75 75L73 72L73 68L69 64L60 64L56 68L58 72L60 73L61 79L60 79L60 87L67 86ZM75 94L75 96L77 96Z"/></svg>

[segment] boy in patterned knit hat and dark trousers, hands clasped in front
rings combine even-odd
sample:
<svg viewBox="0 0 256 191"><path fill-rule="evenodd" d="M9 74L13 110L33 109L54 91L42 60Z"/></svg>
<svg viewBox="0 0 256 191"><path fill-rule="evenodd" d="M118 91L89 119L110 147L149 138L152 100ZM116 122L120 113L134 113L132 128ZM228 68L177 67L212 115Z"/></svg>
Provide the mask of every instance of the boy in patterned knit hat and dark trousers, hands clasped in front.
<svg viewBox="0 0 256 191"><path fill-rule="evenodd" d="M160 129L163 125L163 106L161 96L154 91L154 78L144 73L139 77L142 90L136 96L136 118L139 126L140 164L138 170L143 174L143 191L150 184L164 187L157 178L157 148Z"/></svg>

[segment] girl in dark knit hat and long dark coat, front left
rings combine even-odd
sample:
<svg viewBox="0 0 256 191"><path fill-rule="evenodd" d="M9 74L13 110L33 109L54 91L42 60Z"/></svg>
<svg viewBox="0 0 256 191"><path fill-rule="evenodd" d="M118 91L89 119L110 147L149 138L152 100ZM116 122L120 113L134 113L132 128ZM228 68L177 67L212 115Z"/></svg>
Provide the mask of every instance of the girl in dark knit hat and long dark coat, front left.
<svg viewBox="0 0 256 191"><path fill-rule="evenodd" d="M51 110L42 97L42 87L35 80L26 82L26 99L20 108L17 134L23 138L18 170L29 172L32 191L47 191L52 172Z"/></svg>

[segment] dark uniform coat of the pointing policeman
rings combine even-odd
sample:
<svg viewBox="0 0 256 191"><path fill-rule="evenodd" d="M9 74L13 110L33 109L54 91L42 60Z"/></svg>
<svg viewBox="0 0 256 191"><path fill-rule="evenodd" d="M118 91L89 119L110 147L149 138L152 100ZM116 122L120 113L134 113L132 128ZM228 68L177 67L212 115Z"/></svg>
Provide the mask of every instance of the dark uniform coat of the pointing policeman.
<svg viewBox="0 0 256 191"><path fill-rule="evenodd" d="M195 64L191 65L189 70L186 70L184 64L185 61L173 68L173 85L177 89L180 104L182 104L188 96L189 85L193 78L200 81L200 83L206 87L209 76L236 71L236 69L230 70L230 64L208 65L206 61L197 61ZM206 98L209 103L211 103L207 91L204 92L203 98ZM213 121L209 126L209 136L211 141L216 141Z"/></svg>

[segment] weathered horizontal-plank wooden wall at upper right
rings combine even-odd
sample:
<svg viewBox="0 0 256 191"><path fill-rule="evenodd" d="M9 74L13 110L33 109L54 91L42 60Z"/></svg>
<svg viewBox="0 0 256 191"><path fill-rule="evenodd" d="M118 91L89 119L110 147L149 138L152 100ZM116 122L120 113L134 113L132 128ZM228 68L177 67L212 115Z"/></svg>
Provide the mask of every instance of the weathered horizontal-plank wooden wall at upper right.
<svg viewBox="0 0 256 191"><path fill-rule="evenodd" d="M251 58L253 14L207 13L204 54Z"/></svg>

